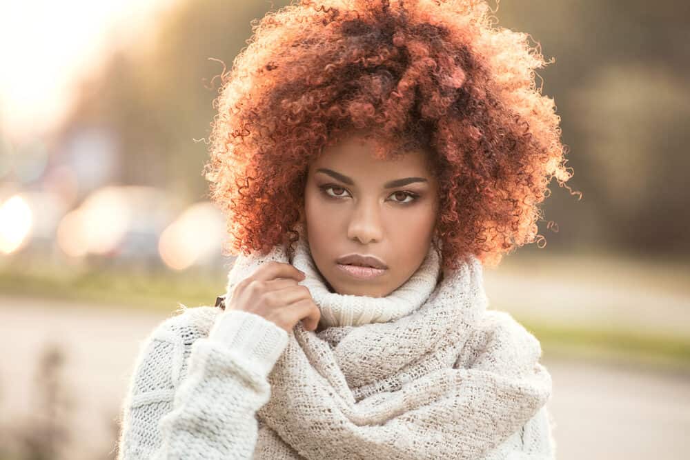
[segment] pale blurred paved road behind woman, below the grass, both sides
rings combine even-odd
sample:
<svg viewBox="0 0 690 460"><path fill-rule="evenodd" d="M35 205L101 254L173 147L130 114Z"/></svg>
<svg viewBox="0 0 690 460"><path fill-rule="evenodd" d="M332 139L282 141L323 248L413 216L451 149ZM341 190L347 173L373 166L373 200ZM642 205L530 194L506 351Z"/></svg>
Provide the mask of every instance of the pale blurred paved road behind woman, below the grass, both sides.
<svg viewBox="0 0 690 460"><path fill-rule="evenodd" d="M70 459L106 458L112 422L139 343L165 314L0 297L1 432L37 412L37 357L48 343L67 353L66 388L76 406ZM11 352L7 352L11 350ZM560 460L687 459L690 375L558 358L546 350Z"/></svg>

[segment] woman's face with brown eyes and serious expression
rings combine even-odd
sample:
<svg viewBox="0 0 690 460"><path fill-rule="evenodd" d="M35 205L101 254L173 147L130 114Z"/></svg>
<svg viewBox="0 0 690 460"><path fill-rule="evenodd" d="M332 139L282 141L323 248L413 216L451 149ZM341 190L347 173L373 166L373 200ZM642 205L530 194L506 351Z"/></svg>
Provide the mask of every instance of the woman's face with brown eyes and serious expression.
<svg viewBox="0 0 690 460"><path fill-rule="evenodd" d="M420 267L438 209L437 181L426 152L375 159L373 141L351 134L311 163L305 188L306 233L312 257L340 294L384 297ZM357 268L339 259L373 256L384 268Z"/></svg>

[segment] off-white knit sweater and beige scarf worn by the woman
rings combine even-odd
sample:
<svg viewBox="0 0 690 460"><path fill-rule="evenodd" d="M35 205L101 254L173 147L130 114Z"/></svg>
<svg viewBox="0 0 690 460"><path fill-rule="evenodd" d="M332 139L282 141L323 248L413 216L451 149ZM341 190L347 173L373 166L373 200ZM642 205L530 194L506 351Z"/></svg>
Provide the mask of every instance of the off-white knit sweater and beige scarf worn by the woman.
<svg viewBox="0 0 690 460"><path fill-rule="evenodd" d="M142 343L119 459L555 458L540 344L487 310L479 261L441 274L430 248L387 297L337 294L302 238L240 255L228 294L271 260L306 272L327 327L183 308Z"/></svg>

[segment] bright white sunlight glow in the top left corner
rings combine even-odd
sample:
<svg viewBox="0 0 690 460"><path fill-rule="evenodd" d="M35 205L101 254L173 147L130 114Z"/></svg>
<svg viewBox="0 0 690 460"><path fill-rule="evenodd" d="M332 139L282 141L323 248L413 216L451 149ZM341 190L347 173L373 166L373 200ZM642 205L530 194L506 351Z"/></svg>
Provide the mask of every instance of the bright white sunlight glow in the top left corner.
<svg viewBox="0 0 690 460"><path fill-rule="evenodd" d="M0 128L29 137L59 126L81 75L120 43L144 36L173 1L23 0L0 13Z"/></svg>

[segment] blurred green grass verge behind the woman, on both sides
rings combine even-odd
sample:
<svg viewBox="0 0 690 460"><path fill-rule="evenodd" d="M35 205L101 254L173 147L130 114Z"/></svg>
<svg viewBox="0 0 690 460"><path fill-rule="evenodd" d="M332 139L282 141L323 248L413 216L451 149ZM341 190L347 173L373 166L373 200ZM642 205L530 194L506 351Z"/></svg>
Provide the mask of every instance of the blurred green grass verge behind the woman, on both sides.
<svg viewBox="0 0 690 460"><path fill-rule="evenodd" d="M122 272L101 269L70 274L15 273L0 270L0 291L6 295L42 297L101 306L172 312L186 306L214 305L224 293L226 273ZM618 357L690 367L689 337L647 334L640 330L565 325L515 315L542 343L544 354L561 352L589 357Z"/></svg>

